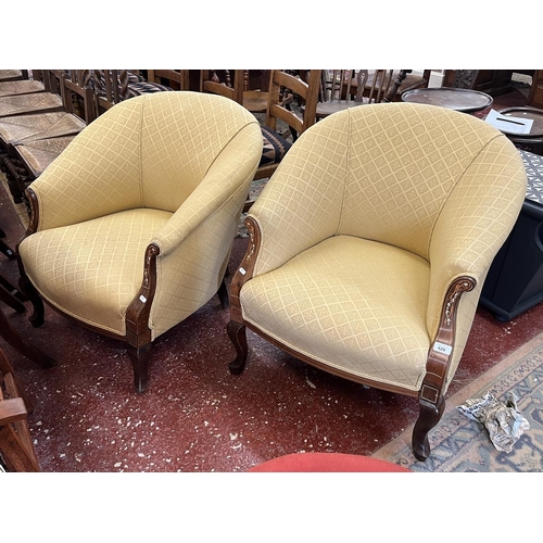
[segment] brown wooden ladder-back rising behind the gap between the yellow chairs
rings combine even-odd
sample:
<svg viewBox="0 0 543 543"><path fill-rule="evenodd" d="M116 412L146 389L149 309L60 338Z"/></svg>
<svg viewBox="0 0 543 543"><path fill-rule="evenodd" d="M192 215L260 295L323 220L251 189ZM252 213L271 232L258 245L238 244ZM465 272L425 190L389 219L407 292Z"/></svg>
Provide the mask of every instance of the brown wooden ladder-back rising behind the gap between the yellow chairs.
<svg viewBox="0 0 543 543"><path fill-rule="evenodd" d="M316 109L320 90L320 70L310 70L308 73L294 75L283 70L273 70L269 76L268 106L266 126L277 130L277 122L282 121L298 136L315 124ZM305 80L304 80L305 79ZM287 109L286 94L292 94L294 102L302 103L303 117L295 108ZM291 103L292 100L287 100Z"/></svg>

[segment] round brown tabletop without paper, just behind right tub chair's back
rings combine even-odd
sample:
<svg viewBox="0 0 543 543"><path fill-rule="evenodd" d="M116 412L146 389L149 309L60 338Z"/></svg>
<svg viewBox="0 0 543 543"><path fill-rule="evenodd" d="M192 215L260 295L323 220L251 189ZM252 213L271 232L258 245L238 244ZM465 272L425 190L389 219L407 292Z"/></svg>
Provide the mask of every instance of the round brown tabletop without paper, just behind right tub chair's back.
<svg viewBox="0 0 543 543"><path fill-rule="evenodd" d="M439 105L449 110L472 113L492 105L492 97L478 90L438 88L408 90L402 94L403 102Z"/></svg>

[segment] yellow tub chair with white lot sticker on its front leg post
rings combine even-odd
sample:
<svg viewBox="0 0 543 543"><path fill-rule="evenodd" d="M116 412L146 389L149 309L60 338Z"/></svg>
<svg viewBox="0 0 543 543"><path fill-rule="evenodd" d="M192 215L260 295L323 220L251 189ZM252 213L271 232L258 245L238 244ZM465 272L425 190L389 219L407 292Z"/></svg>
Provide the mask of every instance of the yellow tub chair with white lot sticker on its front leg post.
<svg viewBox="0 0 543 543"><path fill-rule="evenodd" d="M427 458L488 268L525 193L516 149L469 115L390 103L317 123L245 219L230 371L245 365L249 327L320 369L418 396L413 447Z"/></svg>

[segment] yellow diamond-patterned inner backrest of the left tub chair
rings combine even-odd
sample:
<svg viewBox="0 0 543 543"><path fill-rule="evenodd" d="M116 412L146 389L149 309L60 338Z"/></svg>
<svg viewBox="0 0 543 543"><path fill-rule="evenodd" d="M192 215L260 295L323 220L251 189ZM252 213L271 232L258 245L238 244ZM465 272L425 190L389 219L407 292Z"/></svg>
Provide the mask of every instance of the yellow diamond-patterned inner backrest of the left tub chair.
<svg viewBox="0 0 543 543"><path fill-rule="evenodd" d="M255 125L239 104L212 94L173 91L130 98L92 122L34 182L47 184L56 168L76 168L89 187L88 200L103 215L138 207L173 213L233 137ZM78 161L81 154L85 161ZM93 218L93 210L85 215L86 202L71 200L77 193L76 182L72 185L55 185L68 212Z"/></svg>

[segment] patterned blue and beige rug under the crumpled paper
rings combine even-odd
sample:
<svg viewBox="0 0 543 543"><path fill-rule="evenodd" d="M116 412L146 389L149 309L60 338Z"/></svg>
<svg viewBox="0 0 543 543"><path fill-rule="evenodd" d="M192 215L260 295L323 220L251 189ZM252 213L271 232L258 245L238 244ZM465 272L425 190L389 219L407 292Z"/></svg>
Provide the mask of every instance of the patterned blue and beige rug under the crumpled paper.
<svg viewBox="0 0 543 543"><path fill-rule="evenodd" d="M518 396L517 407L530 428L510 453L497 451L487 428L457 408L487 392L501 402L507 393ZM418 462L411 450L413 427L372 456L421 472L529 472L543 471L543 333L446 400L440 424L430 432L431 455Z"/></svg>

